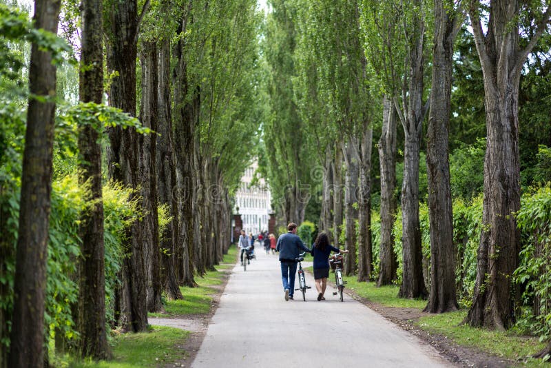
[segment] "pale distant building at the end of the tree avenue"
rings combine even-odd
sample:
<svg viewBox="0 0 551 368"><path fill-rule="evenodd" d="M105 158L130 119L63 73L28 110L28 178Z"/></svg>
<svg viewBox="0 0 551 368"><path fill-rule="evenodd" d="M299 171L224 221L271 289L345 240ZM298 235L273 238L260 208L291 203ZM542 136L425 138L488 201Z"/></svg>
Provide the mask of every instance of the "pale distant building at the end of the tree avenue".
<svg viewBox="0 0 551 368"><path fill-rule="evenodd" d="M236 193L236 209L241 215L242 227L254 236L268 230L269 213L271 212L271 194L263 178L258 184L251 187L253 174L258 167L255 161L241 178L241 185ZM238 208L237 208L238 207Z"/></svg>

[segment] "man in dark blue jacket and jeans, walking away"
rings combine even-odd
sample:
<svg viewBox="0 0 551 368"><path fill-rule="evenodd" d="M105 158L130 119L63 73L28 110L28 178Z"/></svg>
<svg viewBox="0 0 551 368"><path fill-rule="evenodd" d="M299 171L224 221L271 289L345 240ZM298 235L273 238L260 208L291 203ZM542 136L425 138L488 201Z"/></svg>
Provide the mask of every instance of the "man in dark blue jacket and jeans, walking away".
<svg viewBox="0 0 551 368"><path fill-rule="evenodd" d="M297 235L297 224L289 223L287 225L287 234L283 234L278 239L278 245L275 250L280 252L281 280L285 290L285 300L293 300L295 292L295 274L297 272L297 261L299 249L311 253Z"/></svg>

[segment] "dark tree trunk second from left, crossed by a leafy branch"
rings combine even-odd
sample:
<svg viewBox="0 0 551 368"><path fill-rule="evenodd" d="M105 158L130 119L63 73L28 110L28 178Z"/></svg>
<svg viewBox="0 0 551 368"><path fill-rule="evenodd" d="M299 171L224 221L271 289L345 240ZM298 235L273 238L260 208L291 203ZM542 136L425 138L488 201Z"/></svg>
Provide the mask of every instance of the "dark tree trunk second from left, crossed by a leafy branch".
<svg viewBox="0 0 551 368"><path fill-rule="evenodd" d="M99 0L82 3L82 54L79 77L82 102L101 103L103 99L103 6ZM90 203L81 214L79 236L82 256L79 267L79 316L76 318L80 334L81 356L105 359L110 356L105 327L105 245L103 243L103 199L101 191L101 145L96 126L79 127L81 162L79 183L90 180ZM57 336L57 334L56 334Z"/></svg>

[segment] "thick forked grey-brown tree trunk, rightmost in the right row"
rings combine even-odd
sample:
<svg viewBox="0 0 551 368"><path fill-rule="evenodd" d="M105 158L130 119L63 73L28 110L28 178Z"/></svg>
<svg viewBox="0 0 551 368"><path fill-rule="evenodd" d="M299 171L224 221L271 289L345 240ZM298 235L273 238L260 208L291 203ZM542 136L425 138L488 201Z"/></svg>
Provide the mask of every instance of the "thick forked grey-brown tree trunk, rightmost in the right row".
<svg viewBox="0 0 551 368"><path fill-rule="evenodd" d="M484 76L486 158L484 161L483 230L480 237L473 303L464 323L506 329L514 323L512 273L519 258L520 207L519 80L523 63L545 32L551 7L537 30L519 49L519 1L490 1L488 32L482 30L478 3L469 10Z"/></svg>

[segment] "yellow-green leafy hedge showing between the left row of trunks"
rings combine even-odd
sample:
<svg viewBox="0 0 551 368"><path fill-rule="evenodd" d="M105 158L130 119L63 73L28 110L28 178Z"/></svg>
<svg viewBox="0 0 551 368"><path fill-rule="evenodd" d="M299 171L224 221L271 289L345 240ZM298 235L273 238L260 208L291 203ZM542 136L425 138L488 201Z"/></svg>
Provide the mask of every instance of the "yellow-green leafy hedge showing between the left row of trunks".
<svg viewBox="0 0 551 368"><path fill-rule="evenodd" d="M52 183L52 211L50 214L50 234L48 242L48 280L46 284L45 325L50 337L62 333L65 338L76 337L76 327L71 308L77 303L79 285L76 267L81 256L81 240L78 235L79 213L87 209L83 201L87 186L79 185L76 175L65 176ZM4 193L6 194L6 193ZM121 269L125 256L122 247L125 228L136 220L140 211L136 199L128 201L132 191L121 185L108 183L103 187L105 215L105 296L107 320L112 320L114 291L118 283L116 274ZM9 214L6 229L10 234L11 249L3 249L10 254L2 260L3 269L0 283L8 292L0 295L0 307L10 316L13 303L13 281L15 271L15 245L19 216L19 194L12 192L0 199L1 210ZM7 336L1 343L9 345Z"/></svg>

